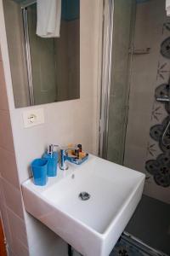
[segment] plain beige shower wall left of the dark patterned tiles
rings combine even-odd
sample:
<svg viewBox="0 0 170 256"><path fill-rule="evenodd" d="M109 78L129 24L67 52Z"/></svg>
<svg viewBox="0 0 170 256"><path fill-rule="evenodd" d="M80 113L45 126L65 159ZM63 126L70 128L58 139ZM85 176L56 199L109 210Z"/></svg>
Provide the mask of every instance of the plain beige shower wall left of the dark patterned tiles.
<svg viewBox="0 0 170 256"><path fill-rule="evenodd" d="M160 54L161 42L170 36L167 22L165 1L137 4L134 50L149 47L150 53L133 55L124 165L146 174L145 195L170 203L170 186L156 183L145 166L147 160L156 160L162 153L159 144L150 138L150 127L161 124L167 116L164 104L155 100L156 87L167 83L170 74L170 60L162 59Z"/></svg>

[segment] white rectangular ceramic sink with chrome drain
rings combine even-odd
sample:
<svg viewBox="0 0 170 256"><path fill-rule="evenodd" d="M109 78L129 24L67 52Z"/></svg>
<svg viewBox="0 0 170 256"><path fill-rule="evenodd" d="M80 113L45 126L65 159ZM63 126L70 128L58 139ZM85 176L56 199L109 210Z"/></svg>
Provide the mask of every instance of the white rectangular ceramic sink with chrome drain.
<svg viewBox="0 0 170 256"><path fill-rule="evenodd" d="M59 169L58 169L59 170ZM84 256L108 256L137 207L144 174L89 155L44 187L22 184L26 211ZM81 192L90 198L82 201Z"/></svg>

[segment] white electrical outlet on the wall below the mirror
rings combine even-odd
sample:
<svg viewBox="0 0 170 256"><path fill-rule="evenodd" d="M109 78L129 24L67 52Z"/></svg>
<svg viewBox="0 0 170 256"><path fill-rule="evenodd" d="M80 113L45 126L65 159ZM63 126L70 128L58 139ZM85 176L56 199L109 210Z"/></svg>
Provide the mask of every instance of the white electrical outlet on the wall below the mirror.
<svg viewBox="0 0 170 256"><path fill-rule="evenodd" d="M42 108L30 109L23 112L24 127L28 128L44 123L44 113Z"/></svg>

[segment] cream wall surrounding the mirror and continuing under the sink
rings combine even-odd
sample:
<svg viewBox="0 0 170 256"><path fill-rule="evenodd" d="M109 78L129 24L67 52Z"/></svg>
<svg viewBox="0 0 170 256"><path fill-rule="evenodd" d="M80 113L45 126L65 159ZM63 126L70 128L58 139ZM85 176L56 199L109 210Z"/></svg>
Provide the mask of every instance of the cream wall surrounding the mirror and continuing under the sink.
<svg viewBox="0 0 170 256"><path fill-rule="evenodd" d="M34 107L43 108L45 123L25 129L23 127L22 113L27 109L33 108L14 108L7 38L3 17L3 1L0 0L0 44L9 103L9 111L5 117L8 117L10 114L14 137L14 153L17 164L16 172L18 172L19 176L18 184L24 182L31 176L29 167L31 160L40 157L48 143L58 143L59 145L82 143L82 147L85 150L97 154L99 127L99 63L101 60L100 49L102 32L101 14L102 1L81 1L80 99ZM9 120L8 125L10 125ZM9 172L11 168L8 168ZM9 189L9 187L10 186L5 183L5 188ZM13 192L15 192L15 190ZM14 202L11 194L8 197L8 201L12 205L14 204L14 206L22 206L21 202L17 204ZM20 217L22 218L23 216ZM59 239L58 236L54 235L52 231L48 230L26 212L24 212L23 222L26 224L28 247L31 256L66 255L66 243ZM20 225L18 229L19 228ZM21 236L22 233L18 233ZM20 237L20 239L23 237L24 236ZM26 242L22 241L22 245L25 248ZM11 253L10 255L13 254ZM27 251L18 255L25 256L27 255ZM15 256L18 255L16 253Z"/></svg>

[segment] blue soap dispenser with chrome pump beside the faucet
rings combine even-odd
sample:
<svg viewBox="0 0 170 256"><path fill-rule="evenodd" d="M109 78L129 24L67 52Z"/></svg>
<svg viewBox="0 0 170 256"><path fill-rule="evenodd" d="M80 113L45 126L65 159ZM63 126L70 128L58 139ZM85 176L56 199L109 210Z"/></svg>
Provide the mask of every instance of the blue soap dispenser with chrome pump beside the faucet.
<svg viewBox="0 0 170 256"><path fill-rule="evenodd" d="M43 154L43 158L48 160L48 177L54 177L57 175L57 163L58 163L58 153L54 151L54 148L58 145L50 144L48 146L48 151Z"/></svg>

